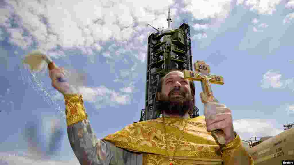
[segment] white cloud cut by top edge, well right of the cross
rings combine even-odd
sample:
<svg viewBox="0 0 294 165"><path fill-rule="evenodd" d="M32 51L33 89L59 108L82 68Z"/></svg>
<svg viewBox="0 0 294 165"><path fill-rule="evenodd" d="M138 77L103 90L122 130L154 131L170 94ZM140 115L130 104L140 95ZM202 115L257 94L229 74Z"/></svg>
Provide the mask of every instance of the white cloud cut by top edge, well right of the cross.
<svg viewBox="0 0 294 165"><path fill-rule="evenodd" d="M237 5L249 6L251 11L257 11L259 14L273 14L276 11L276 5L282 0L238 0Z"/></svg>

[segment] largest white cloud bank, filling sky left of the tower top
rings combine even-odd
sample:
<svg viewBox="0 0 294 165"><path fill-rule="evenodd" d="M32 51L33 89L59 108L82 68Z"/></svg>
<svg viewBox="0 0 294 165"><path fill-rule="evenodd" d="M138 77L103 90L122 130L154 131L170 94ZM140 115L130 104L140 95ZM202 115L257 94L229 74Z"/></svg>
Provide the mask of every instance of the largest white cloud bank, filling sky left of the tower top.
<svg viewBox="0 0 294 165"><path fill-rule="evenodd" d="M147 49L142 52L143 41L147 38L144 34L150 31L146 23L166 27L168 6L174 3L173 0L74 4L71 1L59 4L54 1L7 1L0 11L0 25L10 34L9 42L23 50L36 45L45 52L54 52L60 47L61 51L78 49L92 57L93 51L100 52L105 43L116 42L124 43L116 49L133 51L131 54L143 63L147 52ZM178 9L172 7L171 12L176 16ZM11 28L12 23L19 27ZM101 55L113 57L122 53L126 51L102 52ZM53 57L60 56L55 53Z"/></svg>

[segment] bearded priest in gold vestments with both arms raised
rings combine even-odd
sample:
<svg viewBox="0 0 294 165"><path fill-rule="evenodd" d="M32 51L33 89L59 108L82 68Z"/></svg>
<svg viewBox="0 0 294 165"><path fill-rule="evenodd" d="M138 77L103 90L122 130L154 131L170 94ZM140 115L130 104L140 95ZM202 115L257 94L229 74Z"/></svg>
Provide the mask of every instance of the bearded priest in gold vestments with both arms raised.
<svg viewBox="0 0 294 165"><path fill-rule="evenodd" d="M160 79L156 109L162 117L130 124L103 139L93 133L82 95L73 92L63 73L63 68L55 68L49 76L52 86L64 95L69 142L82 165L254 164L233 129L231 111L225 105L207 103L219 113L190 118L195 86L180 70ZM225 144L218 145L211 136L216 129L225 133Z"/></svg>

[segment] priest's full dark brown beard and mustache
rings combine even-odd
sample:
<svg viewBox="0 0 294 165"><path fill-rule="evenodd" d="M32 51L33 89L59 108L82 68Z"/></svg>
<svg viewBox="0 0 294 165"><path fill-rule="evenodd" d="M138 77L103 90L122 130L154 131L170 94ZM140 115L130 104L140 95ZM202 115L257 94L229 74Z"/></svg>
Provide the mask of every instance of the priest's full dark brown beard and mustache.
<svg viewBox="0 0 294 165"><path fill-rule="evenodd" d="M171 97L174 92L181 92L183 97ZM193 97L190 93L173 89L166 97L161 93L161 100L158 101L158 109L164 111L167 115L180 115L183 117L191 108L193 108Z"/></svg>

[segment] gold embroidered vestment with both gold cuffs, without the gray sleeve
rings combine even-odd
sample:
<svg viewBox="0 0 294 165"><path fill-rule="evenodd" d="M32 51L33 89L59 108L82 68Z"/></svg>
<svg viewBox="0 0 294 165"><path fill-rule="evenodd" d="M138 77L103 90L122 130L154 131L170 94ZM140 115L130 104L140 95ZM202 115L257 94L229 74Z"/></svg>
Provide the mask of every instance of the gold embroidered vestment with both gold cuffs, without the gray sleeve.
<svg viewBox="0 0 294 165"><path fill-rule="evenodd" d="M64 98L67 126L87 119L81 95L64 95ZM187 124L183 128L185 122ZM174 156L176 165L254 164L252 157L245 151L241 139L236 133L232 142L220 148L211 133L207 132L204 116L184 120L165 117L165 123L166 132L161 117L130 124L114 134L109 134L102 140L111 142L116 147L143 154L143 165L169 165L165 141L167 140L169 152L173 153L177 140L184 129L183 138L179 141L179 147Z"/></svg>

